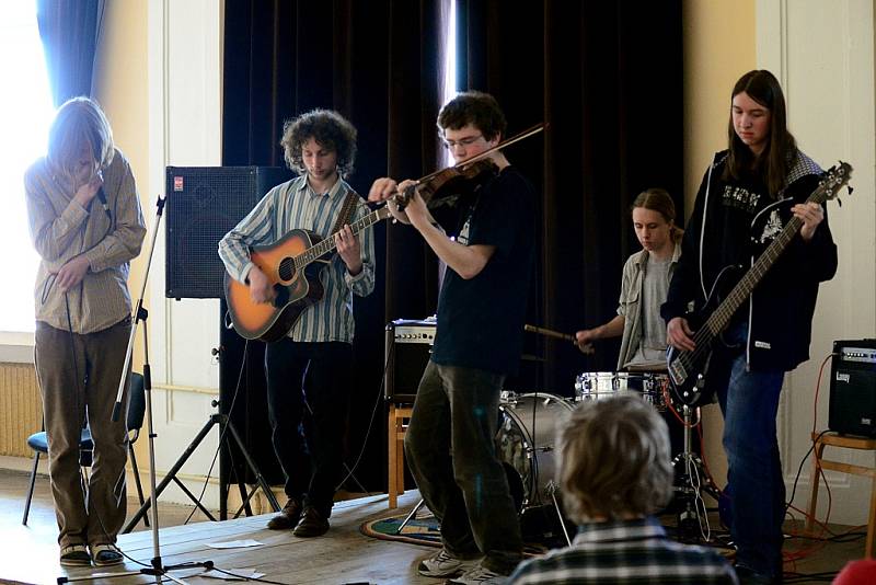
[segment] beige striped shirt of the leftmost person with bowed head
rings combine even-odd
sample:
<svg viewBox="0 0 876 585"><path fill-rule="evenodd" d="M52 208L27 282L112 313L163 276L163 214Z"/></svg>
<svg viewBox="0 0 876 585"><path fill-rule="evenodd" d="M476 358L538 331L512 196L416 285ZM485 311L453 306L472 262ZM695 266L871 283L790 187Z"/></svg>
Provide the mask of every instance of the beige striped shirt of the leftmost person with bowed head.
<svg viewBox="0 0 876 585"><path fill-rule="evenodd" d="M24 188L31 239L41 257L34 287L36 320L65 331L71 325L73 333L84 335L130 317L128 263L140 253L146 227L124 154L116 149L103 170L108 213L97 197L88 208L73 200L72 182L53 172L45 158L27 169ZM80 254L89 260L89 269L65 294L54 275Z"/></svg>

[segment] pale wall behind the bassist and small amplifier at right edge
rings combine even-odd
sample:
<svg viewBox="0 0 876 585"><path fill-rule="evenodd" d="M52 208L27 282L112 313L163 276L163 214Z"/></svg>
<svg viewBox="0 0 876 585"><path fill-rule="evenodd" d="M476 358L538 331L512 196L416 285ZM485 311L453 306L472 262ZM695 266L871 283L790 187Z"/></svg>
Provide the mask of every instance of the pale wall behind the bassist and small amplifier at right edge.
<svg viewBox="0 0 876 585"><path fill-rule="evenodd" d="M854 167L852 196L828 204L839 246L837 276L821 286L811 359L785 380L780 405L780 441L785 481L791 487L807 455L814 426L818 374L834 340L876 337L876 122L874 121L874 11L871 0L758 0L758 66L773 71L785 89L788 125L800 148L828 168L838 159ZM817 431L827 428L830 363L818 393ZM840 454L841 460L873 466L873 454ZM831 455L830 448L826 455ZM811 456L794 504L805 508ZM866 524L869 480L829 472L830 519ZM823 487L822 487L823 490ZM791 492L788 492L791 493ZM827 495L820 498L825 518Z"/></svg>

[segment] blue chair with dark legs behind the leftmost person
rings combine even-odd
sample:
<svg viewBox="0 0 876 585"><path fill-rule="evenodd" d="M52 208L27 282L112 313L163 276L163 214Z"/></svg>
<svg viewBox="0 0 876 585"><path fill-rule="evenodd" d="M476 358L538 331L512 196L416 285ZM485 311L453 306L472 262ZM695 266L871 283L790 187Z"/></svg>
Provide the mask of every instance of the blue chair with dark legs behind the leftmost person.
<svg viewBox="0 0 876 585"><path fill-rule="evenodd" d="M128 399L128 454L130 456L130 466L134 471L134 481L137 484L137 495L140 498L140 505L145 503L143 487L140 484L140 473L137 468L137 457L134 455L134 444L140 436L140 428L143 425L143 416L146 414L146 394L143 390L143 376L136 371L130 375L130 397ZM27 526L27 515L31 512L31 501L34 496L34 484L36 483L36 470L39 466L39 456L48 454L48 437L45 431L34 433L27 437L27 446L34 450L34 464L31 470L31 484L27 489L27 500L24 503L24 516L21 524ZM88 427L82 429L82 436L79 439L79 464L81 466L82 481L88 485L88 471L91 467L91 456L94 450L94 444L91 440L91 432ZM149 520L143 516L143 524L149 526Z"/></svg>

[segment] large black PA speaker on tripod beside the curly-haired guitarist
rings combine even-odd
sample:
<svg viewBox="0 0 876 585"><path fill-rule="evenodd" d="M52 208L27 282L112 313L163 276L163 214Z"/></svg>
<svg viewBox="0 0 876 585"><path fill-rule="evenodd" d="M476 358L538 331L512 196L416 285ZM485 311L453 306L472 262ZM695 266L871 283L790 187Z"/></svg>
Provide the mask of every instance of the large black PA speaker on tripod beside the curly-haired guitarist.
<svg viewBox="0 0 876 585"><path fill-rule="evenodd" d="M270 187L293 176L281 167L168 167L165 296L222 298L219 240Z"/></svg>

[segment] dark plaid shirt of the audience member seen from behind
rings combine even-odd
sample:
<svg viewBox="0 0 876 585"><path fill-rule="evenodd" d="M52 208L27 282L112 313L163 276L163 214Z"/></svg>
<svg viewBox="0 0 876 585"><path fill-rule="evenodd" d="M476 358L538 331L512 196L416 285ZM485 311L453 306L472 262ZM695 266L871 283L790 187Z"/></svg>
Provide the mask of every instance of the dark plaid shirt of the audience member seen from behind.
<svg viewBox="0 0 876 585"><path fill-rule="evenodd" d="M714 550L669 540L654 517L581 526L572 547L517 567L508 584L735 585Z"/></svg>

